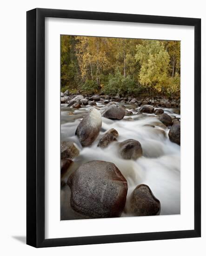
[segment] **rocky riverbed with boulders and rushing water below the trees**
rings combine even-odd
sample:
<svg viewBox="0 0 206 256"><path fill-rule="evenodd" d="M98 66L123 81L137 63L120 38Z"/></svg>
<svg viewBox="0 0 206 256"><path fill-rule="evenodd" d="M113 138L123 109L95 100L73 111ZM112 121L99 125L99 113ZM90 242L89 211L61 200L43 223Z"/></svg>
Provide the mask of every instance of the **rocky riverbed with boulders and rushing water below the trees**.
<svg viewBox="0 0 206 256"><path fill-rule="evenodd" d="M61 220L179 214L179 107L61 94Z"/></svg>

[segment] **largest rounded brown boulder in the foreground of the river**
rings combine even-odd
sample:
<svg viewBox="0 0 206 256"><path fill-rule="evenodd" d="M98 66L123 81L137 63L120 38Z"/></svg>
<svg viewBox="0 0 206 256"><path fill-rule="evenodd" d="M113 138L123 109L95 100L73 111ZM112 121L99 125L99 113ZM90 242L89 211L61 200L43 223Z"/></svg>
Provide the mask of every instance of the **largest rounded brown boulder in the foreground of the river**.
<svg viewBox="0 0 206 256"><path fill-rule="evenodd" d="M70 204L85 218L120 217L125 207L127 182L111 162L90 161L70 175Z"/></svg>

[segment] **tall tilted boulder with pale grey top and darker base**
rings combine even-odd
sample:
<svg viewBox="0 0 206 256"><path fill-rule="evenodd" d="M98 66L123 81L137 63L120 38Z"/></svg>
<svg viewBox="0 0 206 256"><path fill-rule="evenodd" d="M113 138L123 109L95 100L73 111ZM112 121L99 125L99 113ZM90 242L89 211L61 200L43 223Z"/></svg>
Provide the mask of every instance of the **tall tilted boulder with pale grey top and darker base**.
<svg viewBox="0 0 206 256"><path fill-rule="evenodd" d="M101 129L101 114L92 108L89 113L80 121L75 135L78 136L80 143L83 147L90 146L96 140Z"/></svg>

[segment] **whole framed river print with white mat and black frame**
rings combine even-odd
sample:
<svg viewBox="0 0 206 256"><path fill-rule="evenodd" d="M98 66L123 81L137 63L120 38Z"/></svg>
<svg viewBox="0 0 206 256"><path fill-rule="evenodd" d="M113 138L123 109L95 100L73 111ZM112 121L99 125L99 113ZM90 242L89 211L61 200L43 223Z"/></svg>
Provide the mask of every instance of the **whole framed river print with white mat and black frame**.
<svg viewBox="0 0 206 256"><path fill-rule="evenodd" d="M27 12L27 244L201 235L201 20Z"/></svg>

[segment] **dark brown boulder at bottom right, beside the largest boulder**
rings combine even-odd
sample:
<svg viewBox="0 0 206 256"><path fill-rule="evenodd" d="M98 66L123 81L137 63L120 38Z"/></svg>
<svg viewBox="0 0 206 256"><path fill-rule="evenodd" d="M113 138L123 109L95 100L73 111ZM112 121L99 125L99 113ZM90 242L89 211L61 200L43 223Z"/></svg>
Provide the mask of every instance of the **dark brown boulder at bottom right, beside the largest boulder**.
<svg viewBox="0 0 206 256"><path fill-rule="evenodd" d="M134 216L159 215L160 210L159 200L147 185L140 184L133 190L130 198L130 213Z"/></svg>

